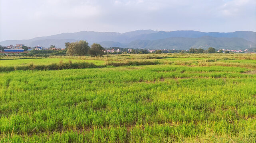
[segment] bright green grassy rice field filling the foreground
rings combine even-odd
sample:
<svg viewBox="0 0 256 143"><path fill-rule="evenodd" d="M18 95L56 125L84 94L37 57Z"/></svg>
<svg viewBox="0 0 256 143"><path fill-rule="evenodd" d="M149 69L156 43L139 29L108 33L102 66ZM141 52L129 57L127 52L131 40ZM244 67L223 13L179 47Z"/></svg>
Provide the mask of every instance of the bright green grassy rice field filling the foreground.
<svg viewBox="0 0 256 143"><path fill-rule="evenodd" d="M0 143L256 142L253 54L8 57L0 69Z"/></svg>

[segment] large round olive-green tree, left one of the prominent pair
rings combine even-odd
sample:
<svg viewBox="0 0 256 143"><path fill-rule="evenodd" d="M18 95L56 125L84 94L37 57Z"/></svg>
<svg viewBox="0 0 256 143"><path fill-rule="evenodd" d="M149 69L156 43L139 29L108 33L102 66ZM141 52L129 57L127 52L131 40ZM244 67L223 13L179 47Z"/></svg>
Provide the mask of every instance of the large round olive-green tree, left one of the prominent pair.
<svg viewBox="0 0 256 143"><path fill-rule="evenodd" d="M88 46L88 43L86 41L81 40L81 41L72 42L67 47L67 54L71 56L75 54L79 56L83 56L87 54L89 48L90 47Z"/></svg>

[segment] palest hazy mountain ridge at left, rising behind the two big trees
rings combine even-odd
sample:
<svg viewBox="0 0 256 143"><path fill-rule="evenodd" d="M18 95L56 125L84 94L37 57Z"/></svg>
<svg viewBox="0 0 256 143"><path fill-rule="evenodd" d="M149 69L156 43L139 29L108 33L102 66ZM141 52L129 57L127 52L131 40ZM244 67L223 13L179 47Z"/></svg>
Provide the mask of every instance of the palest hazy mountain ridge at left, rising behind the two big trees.
<svg viewBox="0 0 256 143"><path fill-rule="evenodd" d="M132 32L126 32L126 33L116 33L116 32L93 32L93 31L81 31L81 32L75 32L75 33L61 33L57 35L52 36L46 36L46 37L37 37L29 40L7 40L0 42L1 45L7 46L7 45L15 45L15 44L26 44L29 46L34 45L40 45L43 47L48 47L47 41L48 40L56 40L56 43L52 43L54 45L63 46L64 44L60 44L59 40L64 39L72 39L72 41L79 41L79 40L86 40L88 43L100 43L103 41L115 41L120 43L129 43L129 39L131 37L141 35L141 34L151 34L156 33L158 31L153 30L137 30ZM46 40L45 44L41 44L42 40ZM40 41L38 44L36 44L36 41ZM69 42L69 41L66 41ZM64 48L64 47L62 47Z"/></svg>

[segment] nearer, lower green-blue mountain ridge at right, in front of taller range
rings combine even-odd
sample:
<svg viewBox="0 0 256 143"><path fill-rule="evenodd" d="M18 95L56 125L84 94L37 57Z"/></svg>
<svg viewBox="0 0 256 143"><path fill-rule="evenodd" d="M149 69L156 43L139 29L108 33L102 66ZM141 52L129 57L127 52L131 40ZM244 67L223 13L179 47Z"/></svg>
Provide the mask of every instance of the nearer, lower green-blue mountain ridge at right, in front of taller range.
<svg viewBox="0 0 256 143"><path fill-rule="evenodd" d="M136 40L129 43L125 48L146 48L146 49L176 49L189 50L190 48L216 49L246 49L256 47L255 43L242 38L216 38L203 36L199 38L171 37L159 40Z"/></svg>

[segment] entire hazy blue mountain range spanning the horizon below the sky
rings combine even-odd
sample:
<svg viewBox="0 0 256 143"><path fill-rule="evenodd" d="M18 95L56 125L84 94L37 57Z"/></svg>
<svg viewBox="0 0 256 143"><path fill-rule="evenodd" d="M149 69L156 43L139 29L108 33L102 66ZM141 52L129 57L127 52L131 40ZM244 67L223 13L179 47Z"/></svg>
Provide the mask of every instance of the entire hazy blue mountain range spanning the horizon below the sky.
<svg viewBox="0 0 256 143"><path fill-rule="evenodd" d="M199 31L153 31L137 30L126 33L81 31L61 33L28 40L2 41L2 46L25 44L27 46L50 47L55 45L64 48L65 42L86 40L89 44L99 43L103 47L145 48L145 49L176 49L189 48L224 48L246 49L256 48L256 32L236 31L232 33L199 32Z"/></svg>

